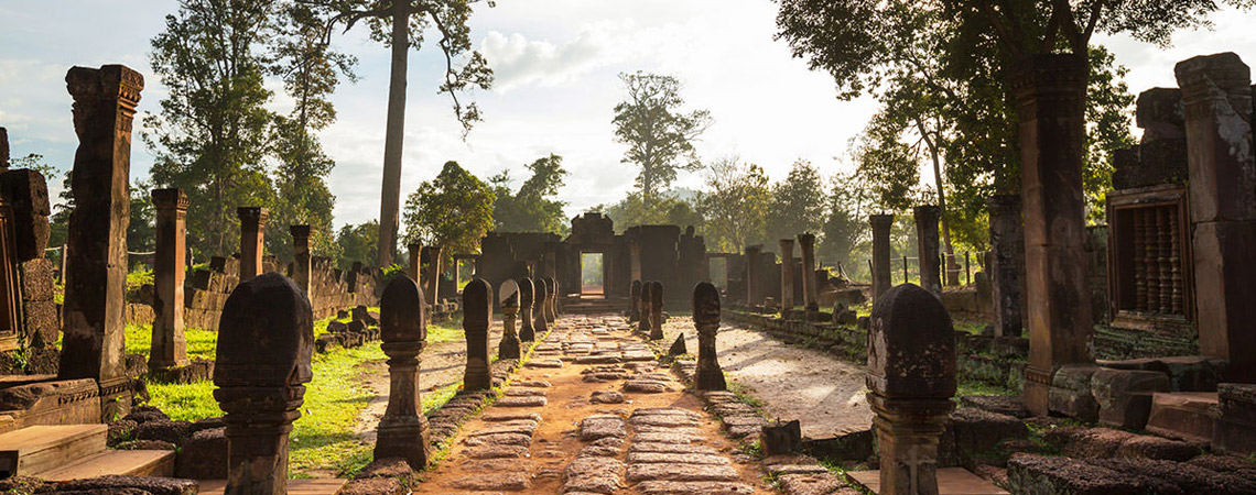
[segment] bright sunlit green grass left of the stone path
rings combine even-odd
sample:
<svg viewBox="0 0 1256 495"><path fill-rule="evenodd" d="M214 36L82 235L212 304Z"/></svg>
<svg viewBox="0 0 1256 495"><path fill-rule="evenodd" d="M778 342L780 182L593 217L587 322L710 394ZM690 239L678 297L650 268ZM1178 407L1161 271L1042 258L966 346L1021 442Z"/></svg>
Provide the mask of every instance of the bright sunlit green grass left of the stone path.
<svg viewBox="0 0 1256 495"><path fill-rule="evenodd" d="M315 335L327 332L332 318L315 322ZM188 356L214 358L216 332L187 330ZM428 342L458 340L461 326L437 323L428 328ZM152 328L127 327L127 352L148 353ZM354 436L358 416L374 396L360 380L363 365L384 361L379 342L357 348L337 348L315 355L314 380L306 383L301 417L293 425L289 472L294 477L332 471L333 475L352 475L372 457L372 445ZM425 392L423 411L427 412L453 396L458 383ZM171 419L196 421L221 416L214 400L214 383L208 381L188 385L148 383L149 402L161 407Z"/></svg>

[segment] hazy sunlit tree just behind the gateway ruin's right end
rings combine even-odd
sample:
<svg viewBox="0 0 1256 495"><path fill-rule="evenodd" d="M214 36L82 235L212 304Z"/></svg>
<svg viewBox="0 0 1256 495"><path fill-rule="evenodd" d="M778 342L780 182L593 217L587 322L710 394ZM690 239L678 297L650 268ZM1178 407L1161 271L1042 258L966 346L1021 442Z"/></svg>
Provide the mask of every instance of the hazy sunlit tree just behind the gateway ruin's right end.
<svg viewBox="0 0 1256 495"><path fill-rule="evenodd" d="M707 221L707 246L737 253L761 242L772 201L764 169L725 157L711 164L706 185L708 192L698 197L698 212Z"/></svg>

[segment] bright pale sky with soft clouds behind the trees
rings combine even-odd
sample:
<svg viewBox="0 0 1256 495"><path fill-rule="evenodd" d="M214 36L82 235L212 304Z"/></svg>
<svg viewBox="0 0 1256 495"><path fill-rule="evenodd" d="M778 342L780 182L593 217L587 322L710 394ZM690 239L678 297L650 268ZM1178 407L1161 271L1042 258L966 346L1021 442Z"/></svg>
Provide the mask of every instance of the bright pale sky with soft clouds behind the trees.
<svg viewBox="0 0 1256 495"><path fill-rule="evenodd" d="M850 139L877 105L842 102L831 78L810 71L774 40L771 0L497 0L476 4L472 44L496 80L477 91L484 122L463 140L451 100L436 93L443 58L435 46L409 55L402 194L440 172L446 160L487 179L510 169L516 185L525 164L550 153L570 172L560 189L568 216L614 203L633 187L636 168L620 163L613 109L624 98L620 73L646 70L683 81L687 109L707 109L715 124L696 143L703 160L727 155L784 178L798 159L823 174L847 172ZM0 127L13 155L39 153L60 170L72 167L77 138L65 71L73 65L121 63L146 75L139 123L158 110L165 89L148 65L149 40L176 1L0 0ZM165 10L163 10L165 9ZM1182 31L1173 45L1096 35L1127 66L1134 93L1174 86L1173 64L1218 51L1256 61L1256 13L1222 10L1212 30ZM322 132L337 162L328 183L337 195L335 224L379 216L389 53L364 29L339 35L337 49L358 58L355 84L333 95L339 119ZM291 108L271 83L278 112ZM137 123L137 129L139 128ZM1137 132L1135 132L1137 134ZM148 177L154 153L134 139L132 180ZM674 185L700 188L702 173ZM53 198L60 180L49 180ZM404 201L404 197L403 197Z"/></svg>

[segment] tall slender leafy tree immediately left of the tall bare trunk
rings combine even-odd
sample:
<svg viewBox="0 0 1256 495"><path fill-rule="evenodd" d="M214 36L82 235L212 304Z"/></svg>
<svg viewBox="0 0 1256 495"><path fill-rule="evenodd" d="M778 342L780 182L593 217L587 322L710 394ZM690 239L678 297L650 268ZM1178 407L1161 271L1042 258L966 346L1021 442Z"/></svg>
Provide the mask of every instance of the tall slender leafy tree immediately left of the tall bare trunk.
<svg viewBox="0 0 1256 495"><path fill-rule="evenodd" d="M353 73L357 60L330 49L324 31L329 16L328 9L318 5L286 4L271 45L275 60L271 71L294 100L293 110L276 115L273 127L276 202L266 244L280 259L293 256L288 226L313 226L315 236L310 241L317 254L332 254L337 246L332 231L335 197L327 184L335 162L323 153L317 132L335 122L335 108L328 96L342 78L357 79Z"/></svg>

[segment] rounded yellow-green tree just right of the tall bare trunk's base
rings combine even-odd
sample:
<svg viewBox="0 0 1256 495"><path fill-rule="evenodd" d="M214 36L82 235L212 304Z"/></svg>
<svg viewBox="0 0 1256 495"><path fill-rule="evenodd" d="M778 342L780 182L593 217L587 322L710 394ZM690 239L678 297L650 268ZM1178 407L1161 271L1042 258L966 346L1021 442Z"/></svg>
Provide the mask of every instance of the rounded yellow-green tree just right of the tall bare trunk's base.
<svg viewBox="0 0 1256 495"><path fill-rule="evenodd" d="M442 266L453 254L476 253L492 228L492 189L458 165L446 162L436 179L420 184L406 199L406 239L442 248Z"/></svg>

